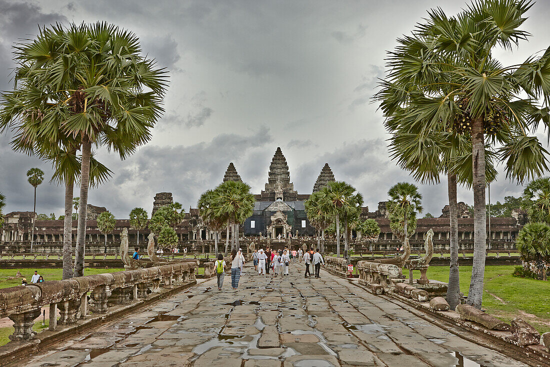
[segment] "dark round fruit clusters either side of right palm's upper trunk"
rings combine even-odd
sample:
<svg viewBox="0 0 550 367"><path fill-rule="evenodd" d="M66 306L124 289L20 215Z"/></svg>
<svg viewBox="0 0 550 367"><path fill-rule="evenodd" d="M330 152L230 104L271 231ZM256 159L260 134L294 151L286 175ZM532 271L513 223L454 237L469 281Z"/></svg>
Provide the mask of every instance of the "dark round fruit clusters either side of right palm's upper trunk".
<svg viewBox="0 0 550 367"><path fill-rule="evenodd" d="M454 118L452 128L459 134L470 133L472 130L472 117L470 116L470 109L468 108L468 99L462 98L458 100L456 106L458 106L460 114L457 114ZM488 107L485 112L483 132L485 134L494 135L500 128L507 124L508 116L506 112L494 99L492 99L490 107Z"/></svg>

